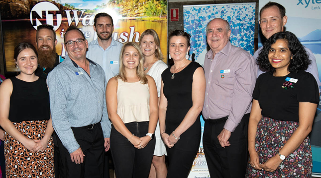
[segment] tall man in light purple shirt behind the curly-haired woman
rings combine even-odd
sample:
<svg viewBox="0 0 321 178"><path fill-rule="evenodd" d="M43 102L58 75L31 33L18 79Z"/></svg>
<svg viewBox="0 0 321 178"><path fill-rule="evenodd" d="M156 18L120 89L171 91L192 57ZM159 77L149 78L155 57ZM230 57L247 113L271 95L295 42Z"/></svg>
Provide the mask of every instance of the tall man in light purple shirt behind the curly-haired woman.
<svg viewBox="0 0 321 178"><path fill-rule="evenodd" d="M285 15L285 8L283 5L277 2L268 2L265 4L260 10L260 27L262 34L266 39L270 38L272 35L278 32L284 31L284 25L287 23L288 17ZM320 93L320 86L321 82L319 80L319 72L318 66L315 56L313 55L312 51L308 48L304 47L309 55L309 59L311 60L311 64L309 65L307 72L311 73L315 79L317 80L319 86L319 93ZM254 59L257 59L259 56L260 51L263 47L259 48L253 55ZM258 69L257 77L266 71Z"/></svg>

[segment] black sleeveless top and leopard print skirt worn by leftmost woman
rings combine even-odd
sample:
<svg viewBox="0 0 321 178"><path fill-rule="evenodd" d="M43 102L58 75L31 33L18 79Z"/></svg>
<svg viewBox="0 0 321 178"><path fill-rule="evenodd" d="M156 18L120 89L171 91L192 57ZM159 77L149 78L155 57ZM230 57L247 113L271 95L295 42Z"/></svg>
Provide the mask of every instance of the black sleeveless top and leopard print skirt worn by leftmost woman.
<svg viewBox="0 0 321 178"><path fill-rule="evenodd" d="M49 93L45 78L26 82L10 78L12 93L8 119L29 139L42 139L50 119ZM6 177L54 178L54 145L49 139L43 152L32 152L4 132Z"/></svg>

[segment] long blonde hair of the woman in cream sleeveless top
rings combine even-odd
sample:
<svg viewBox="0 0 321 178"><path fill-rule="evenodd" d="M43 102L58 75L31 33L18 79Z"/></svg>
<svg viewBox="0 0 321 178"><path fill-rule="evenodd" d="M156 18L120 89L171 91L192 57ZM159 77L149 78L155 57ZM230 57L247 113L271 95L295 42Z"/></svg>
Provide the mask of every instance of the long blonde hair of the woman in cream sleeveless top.
<svg viewBox="0 0 321 178"><path fill-rule="evenodd" d="M128 42L128 43L124 44L121 48L120 56L119 56L119 74L116 75L115 79L119 78L122 81L127 82L125 67L124 67L124 64L122 63L122 58L123 58L123 55L124 55L123 53L124 53L125 49L130 46L134 47L139 54L139 64L136 67L136 75L142 84L146 84L146 83L148 83L148 79L146 78L146 76L144 74L143 53L141 52L140 47L136 43L133 43L133 42Z"/></svg>

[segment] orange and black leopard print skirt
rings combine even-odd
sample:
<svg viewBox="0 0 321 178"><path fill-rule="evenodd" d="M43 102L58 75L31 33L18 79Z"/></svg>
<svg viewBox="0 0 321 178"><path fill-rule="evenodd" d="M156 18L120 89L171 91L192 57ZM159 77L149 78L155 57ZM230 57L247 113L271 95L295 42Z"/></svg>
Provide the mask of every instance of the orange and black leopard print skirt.
<svg viewBox="0 0 321 178"><path fill-rule="evenodd" d="M12 122L29 139L45 135L48 120ZM5 174L7 178L54 178L54 145L52 137L43 152L32 152L4 132Z"/></svg>

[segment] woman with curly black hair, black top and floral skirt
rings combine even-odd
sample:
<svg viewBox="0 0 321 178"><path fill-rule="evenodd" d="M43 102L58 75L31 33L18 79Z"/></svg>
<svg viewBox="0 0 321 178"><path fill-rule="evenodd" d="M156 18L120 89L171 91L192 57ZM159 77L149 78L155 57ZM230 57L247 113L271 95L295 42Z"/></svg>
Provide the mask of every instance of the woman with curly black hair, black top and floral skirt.
<svg viewBox="0 0 321 178"><path fill-rule="evenodd" d="M305 72L311 63L297 37L280 32L259 54L248 126L247 178L311 178L311 132L319 103L318 84Z"/></svg>

